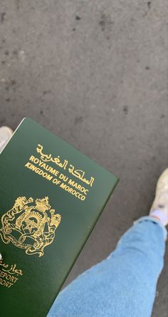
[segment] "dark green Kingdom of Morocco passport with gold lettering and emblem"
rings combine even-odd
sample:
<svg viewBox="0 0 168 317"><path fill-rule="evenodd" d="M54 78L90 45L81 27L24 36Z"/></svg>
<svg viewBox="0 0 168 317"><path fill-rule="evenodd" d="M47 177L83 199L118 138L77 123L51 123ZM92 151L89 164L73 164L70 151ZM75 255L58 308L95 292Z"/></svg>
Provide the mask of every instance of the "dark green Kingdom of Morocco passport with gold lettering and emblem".
<svg viewBox="0 0 168 317"><path fill-rule="evenodd" d="M46 317L118 179L30 118L0 155L0 311Z"/></svg>

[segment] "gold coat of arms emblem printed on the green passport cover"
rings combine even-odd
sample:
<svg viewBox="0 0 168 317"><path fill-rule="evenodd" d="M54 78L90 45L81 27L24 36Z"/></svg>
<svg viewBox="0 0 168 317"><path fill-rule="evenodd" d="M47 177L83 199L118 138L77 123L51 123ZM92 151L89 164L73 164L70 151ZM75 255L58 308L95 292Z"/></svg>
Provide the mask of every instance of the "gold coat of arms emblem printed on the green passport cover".
<svg viewBox="0 0 168 317"><path fill-rule="evenodd" d="M25 249L28 255L43 256L60 222L61 214L51 209L48 197L35 201L32 197L18 197L14 206L1 217L0 236L5 244L11 242Z"/></svg>

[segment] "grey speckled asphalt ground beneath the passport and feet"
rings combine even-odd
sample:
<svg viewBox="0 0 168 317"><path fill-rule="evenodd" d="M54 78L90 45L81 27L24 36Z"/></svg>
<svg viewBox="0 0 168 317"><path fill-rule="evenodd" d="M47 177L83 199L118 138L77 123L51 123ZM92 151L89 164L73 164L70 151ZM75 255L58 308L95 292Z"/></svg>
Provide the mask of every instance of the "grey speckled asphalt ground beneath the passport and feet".
<svg viewBox="0 0 168 317"><path fill-rule="evenodd" d="M167 1L0 0L0 100L0 125L29 116L120 177L69 282L148 213L167 166Z"/></svg>

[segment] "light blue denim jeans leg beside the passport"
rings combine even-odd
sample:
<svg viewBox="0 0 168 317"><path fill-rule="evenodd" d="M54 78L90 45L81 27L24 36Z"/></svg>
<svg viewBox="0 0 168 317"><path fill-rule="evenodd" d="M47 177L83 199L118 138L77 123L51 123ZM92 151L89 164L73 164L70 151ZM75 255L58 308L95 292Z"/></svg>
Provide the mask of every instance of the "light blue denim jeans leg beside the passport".
<svg viewBox="0 0 168 317"><path fill-rule="evenodd" d="M164 265L167 231L142 217L107 259L58 294L47 317L149 317Z"/></svg>

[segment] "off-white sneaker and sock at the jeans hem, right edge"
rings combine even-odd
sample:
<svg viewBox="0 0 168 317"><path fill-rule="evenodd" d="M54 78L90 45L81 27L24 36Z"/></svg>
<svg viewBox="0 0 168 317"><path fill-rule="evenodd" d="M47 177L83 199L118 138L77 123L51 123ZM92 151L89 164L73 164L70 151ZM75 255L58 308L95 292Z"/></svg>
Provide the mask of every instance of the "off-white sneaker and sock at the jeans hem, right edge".
<svg viewBox="0 0 168 317"><path fill-rule="evenodd" d="M157 181L154 202L149 212L150 216L159 218L164 226L168 224L168 168L162 172Z"/></svg>

